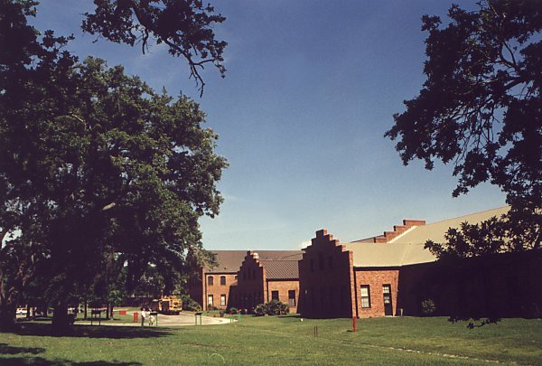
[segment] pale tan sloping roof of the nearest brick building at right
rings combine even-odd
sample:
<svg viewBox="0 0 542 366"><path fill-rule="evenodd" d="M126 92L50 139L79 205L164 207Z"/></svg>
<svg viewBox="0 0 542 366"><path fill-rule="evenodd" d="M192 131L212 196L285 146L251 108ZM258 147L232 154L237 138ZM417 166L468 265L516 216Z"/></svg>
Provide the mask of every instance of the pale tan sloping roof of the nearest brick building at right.
<svg viewBox="0 0 542 366"><path fill-rule="evenodd" d="M350 242L343 244L353 253L354 267L400 267L433 262L435 256L424 249L425 241L443 242L449 228L459 228L463 222L476 223L493 216L500 217L509 206L472 213L470 215L416 226L388 243Z"/></svg>

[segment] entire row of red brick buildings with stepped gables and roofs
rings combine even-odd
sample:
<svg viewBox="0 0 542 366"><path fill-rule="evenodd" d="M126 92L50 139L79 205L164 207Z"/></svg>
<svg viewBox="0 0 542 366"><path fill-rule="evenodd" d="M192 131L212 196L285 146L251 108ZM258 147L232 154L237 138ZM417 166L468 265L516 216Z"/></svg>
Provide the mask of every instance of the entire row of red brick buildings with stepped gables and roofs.
<svg viewBox="0 0 542 366"><path fill-rule="evenodd" d="M425 299L443 315L542 316L542 253L444 263L424 249L427 240L444 242L449 228L508 210L434 223L404 220L383 235L347 243L319 230L303 251L214 251L218 266L200 268L189 294L204 309L251 309L276 298L310 318L419 315Z"/></svg>

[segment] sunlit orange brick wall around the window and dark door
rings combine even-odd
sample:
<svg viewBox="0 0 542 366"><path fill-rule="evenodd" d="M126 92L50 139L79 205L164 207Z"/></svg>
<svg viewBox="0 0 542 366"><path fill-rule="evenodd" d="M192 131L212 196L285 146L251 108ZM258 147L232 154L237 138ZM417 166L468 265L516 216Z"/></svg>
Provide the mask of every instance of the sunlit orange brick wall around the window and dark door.
<svg viewBox="0 0 542 366"><path fill-rule="evenodd" d="M384 293L383 286L389 285L391 297L391 314L397 313L397 296L398 296L398 268L393 269L369 269L369 268L354 268L356 276L356 302L358 317L368 318L373 316L384 316ZM369 286L369 307L363 307L361 301L361 286ZM367 305L367 304L365 304Z"/></svg>

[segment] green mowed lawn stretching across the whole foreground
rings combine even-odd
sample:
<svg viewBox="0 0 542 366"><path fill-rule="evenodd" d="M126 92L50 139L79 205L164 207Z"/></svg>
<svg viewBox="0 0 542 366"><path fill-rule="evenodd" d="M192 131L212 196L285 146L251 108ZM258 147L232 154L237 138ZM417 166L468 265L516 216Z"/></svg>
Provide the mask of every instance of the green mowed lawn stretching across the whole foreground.
<svg viewBox="0 0 542 366"><path fill-rule="evenodd" d="M314 336L314 326L318 336ZM307 320L251 317L178 328L47 324L0 333L2 364L542 364L542 321L504 319L467 329L443 317ZM94 363L96 362L96 363Z"/></svg>

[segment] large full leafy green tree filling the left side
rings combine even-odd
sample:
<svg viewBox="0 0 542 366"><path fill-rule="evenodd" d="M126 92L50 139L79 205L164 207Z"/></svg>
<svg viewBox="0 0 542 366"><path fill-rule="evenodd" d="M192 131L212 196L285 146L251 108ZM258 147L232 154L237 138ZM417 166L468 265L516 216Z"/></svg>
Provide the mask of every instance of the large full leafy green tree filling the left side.
<svg viewBox="0 0 542 366"><path fill-rule="evenodd" d="M20 276L2 249L0 281L20 293L39 280L60 309L89 289L116 301L149 264L173 288L173 273L209 258L198 219L222 202L227 164L204 113L121 66L79 62L64 37L38 39L26 23L33 2L0 5L1 233L21 231L5 248L30 249L18 250L29 264Z"/></svg>

